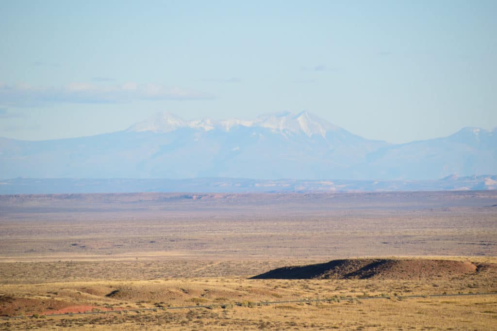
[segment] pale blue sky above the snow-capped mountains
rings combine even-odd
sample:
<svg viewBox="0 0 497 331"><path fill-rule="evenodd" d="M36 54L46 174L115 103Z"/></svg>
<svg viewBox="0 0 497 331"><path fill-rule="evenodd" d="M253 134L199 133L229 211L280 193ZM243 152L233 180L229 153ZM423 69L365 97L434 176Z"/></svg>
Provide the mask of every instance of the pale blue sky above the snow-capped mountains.
<svg viewBox="0 0 497 331"><path fill-rule="evenodd" d="M0 136L307 110L407 142L497 127L497 1L0 2Z"/></svg>

